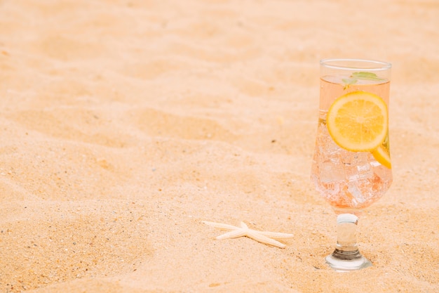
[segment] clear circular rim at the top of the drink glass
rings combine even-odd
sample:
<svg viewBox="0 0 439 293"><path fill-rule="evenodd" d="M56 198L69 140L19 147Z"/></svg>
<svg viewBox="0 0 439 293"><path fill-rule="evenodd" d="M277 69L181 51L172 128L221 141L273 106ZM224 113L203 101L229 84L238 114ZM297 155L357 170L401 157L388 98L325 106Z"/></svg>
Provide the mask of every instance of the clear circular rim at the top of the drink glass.
<svg viewBox="0 0 439 293"><path fill-rule="evenodd" d="M333 64L331 64L333 63ZM336 64L339 63L339 64ZM356 66L343 65L342 63L356 63ZM370 65L369 67L360 67L358 63ZM372 59L355 59L355 58L327 58L320 60L320 65L336 70L367 70L367 71L383 71L391 69L391 63L372 60ZM374 66L372 66L374 65Z"/></svg>

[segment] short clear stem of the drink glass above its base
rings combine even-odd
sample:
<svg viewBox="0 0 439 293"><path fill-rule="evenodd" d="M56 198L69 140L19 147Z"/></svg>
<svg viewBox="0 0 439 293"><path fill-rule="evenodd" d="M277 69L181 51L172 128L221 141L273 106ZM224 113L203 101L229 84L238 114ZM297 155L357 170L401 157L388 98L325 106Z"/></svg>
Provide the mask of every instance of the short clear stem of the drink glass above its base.
<svg viewBox="0 0 439 293"><path fill-rule="evenodd" d="M357 246L358 217L353 214L337 216L337 245L332 256L337 259L351 260L361 256Z"/></svg>

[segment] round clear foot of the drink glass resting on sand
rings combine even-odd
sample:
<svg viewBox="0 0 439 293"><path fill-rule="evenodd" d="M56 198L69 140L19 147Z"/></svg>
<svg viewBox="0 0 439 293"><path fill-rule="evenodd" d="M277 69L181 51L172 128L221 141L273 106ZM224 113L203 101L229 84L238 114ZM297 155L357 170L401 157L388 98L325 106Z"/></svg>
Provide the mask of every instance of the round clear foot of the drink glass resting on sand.
<svg viewBox="0 0 439 293"><path fill-rule="evenodd" d="M326 263L337 272L356 271L372 266L370 260L362 256L358 250L356 252L342 252L335 249L335 252L326 256Z"/></svg>

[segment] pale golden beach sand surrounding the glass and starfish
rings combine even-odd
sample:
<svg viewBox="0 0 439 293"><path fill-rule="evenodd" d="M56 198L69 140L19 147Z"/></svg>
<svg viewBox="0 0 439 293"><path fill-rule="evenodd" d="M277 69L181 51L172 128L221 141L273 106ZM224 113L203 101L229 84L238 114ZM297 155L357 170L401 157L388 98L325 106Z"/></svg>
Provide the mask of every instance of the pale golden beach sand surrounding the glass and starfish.
<svg viewBox="0 0 439 293"><path fill-rule="evenodd" d="M439 292L438 27L434 0L0 0L0 292ZM393 63L347 274L309 180L337 57Z"/></svg>

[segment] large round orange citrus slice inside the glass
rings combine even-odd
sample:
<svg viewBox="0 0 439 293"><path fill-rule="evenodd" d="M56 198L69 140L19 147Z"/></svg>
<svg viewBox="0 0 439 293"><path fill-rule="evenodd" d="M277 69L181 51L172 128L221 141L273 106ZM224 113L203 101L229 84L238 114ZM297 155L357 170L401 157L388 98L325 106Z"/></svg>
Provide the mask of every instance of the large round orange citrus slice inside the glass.
<svg viewBox="0 0 439 293"><path fill-rule="evenodd" d="M327 130L341 148L372 152L384 141L388 128L387 105L366 91L353 91L337 98L327 112Z"/></svg>

